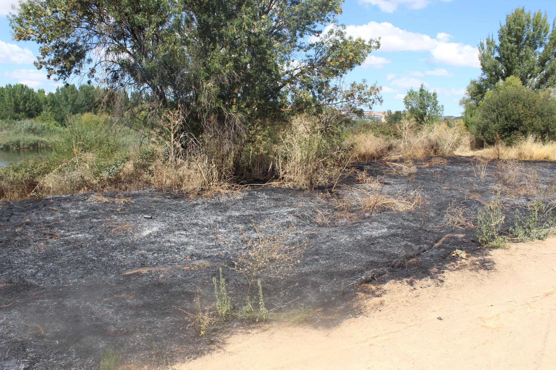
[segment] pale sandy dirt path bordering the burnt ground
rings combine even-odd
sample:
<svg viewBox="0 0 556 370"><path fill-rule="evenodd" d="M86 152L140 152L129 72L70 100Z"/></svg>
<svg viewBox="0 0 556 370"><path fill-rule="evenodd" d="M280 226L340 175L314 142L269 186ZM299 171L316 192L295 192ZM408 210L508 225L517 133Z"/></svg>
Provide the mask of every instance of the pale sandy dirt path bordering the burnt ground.
<svg viewBox="0 0 556 370"><path fill-rule="evenodd" d="M269 325L176 369L556 369L556 237L492 260L389 282L330 330Z"/></svg>

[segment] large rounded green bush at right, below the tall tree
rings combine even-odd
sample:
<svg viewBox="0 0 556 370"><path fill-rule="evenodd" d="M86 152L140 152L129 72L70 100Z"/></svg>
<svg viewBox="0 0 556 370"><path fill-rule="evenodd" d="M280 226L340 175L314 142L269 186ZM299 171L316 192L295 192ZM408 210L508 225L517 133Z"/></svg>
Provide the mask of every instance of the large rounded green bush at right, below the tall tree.
<svg viewBox="0 0 556 370"><path fill-rule="evenodd" d="M486 93L467 122L471 133L488 144L497 141L497 133L506 143L528 135L555 140L556 102L548 91L534 92L512 76Z"/></svg>

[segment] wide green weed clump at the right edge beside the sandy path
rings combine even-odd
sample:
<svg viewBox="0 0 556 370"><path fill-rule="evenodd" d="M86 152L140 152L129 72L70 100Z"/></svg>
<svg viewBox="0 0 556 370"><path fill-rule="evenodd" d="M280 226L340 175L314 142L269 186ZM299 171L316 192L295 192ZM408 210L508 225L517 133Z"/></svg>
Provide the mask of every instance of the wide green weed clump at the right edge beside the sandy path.
<svg viewBox="0 0 556 370"><path fill-rule="evenodd" d="M510 234L519 242L547 239L550 227L556 224L556 217L552 215L553 208L549 208L541 192L539 197L527 206L528 216L527 213L515 210L514 226L510 227Z"/></svg>

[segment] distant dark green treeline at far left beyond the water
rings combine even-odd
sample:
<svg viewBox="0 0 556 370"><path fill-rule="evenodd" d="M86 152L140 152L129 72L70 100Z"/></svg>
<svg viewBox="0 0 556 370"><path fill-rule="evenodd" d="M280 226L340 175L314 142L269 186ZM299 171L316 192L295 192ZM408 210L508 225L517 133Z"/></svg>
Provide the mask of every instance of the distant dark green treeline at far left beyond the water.
<svg viewBox="0 0 556 370"><path fill-rule="evenodd" d="M65 85L55 92L35 91L24 84L7 84L0 87L0 119L20 120L41 117L63 124L68 116L83 113L98 113L100 110L115 109L115 102L129 103L124 94L122 99L110 97L110 92L91 85ZM108 102L108 104L105 104Z"/></svg>

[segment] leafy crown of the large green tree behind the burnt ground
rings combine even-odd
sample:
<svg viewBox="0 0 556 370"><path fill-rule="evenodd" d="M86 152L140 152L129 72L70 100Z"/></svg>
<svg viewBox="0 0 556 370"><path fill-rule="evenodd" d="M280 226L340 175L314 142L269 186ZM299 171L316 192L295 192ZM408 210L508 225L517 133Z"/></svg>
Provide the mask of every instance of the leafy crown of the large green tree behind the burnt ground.
<svg viewBox="0 0 556 370"><path fill-rule="evenodd" d="M248 118L279 113L300 95L313 104L322 81L379 47L336 24L341 3L24 0L9 21L16 40L40 44L36 67L49 77L82 75L150 97L180 109L188 133L226 146L249 132ZM323 34L326 23L335 26Z"/></svg>

